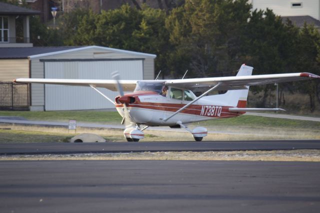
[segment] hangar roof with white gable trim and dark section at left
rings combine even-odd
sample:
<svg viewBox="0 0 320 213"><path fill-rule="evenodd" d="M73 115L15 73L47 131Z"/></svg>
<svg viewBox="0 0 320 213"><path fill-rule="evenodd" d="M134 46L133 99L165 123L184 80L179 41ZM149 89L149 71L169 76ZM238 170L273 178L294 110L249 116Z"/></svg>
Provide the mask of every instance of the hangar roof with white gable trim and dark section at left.
<svg viewBox="0 0 320 213"><path fill-rule="evenodd" d="M45 47L0 47L0 58L39 58L67 52L96 48L112 52L155 58L155 54L115 49L103 46L45 46Z"/></svg>

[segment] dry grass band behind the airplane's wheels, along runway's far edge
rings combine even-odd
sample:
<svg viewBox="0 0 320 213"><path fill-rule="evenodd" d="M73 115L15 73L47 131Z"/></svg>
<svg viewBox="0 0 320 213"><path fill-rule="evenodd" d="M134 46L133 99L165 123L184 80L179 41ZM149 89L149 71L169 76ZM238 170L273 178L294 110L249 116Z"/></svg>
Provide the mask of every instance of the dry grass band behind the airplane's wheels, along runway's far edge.
<svg viewBox="0 0 320 213"><path fill-rule="evenodd" d="M190 126L192 128L193 126ZM115 128L84 128L77 127L76 133L69 131L66 127L43 127L17 124L0 124L0 128L11 130L0 130L0 142L52 142L64 141L80 133L94 133L104 137L107 141L126 141L123 137L123 129ZM274 127L208 127L209 133L205 140L266 140L266 139L320 139L320 130L300 130L296 128L274 128ZM193 140L192 135L186 131L144 131L145 137L140 141L186 141ZM32 135L34 135L32 137ZM41 139L42 135L42 139ZM57 137L48 137L56 135ZM54 140L55 139L55 140ZM35 141L36 140L36 141Z"/></svg>

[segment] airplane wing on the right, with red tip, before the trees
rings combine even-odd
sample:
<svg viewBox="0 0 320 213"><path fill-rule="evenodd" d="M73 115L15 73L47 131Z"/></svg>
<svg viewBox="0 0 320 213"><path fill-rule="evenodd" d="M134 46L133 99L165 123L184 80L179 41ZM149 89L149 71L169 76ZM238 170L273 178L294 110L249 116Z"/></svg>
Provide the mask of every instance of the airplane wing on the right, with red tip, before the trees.
<svg viewBox="0 0 320 213"><path fill-rule="evenodd" d="M220 83L219 90L245 89L245 86L260 85L267 83L280 83L295 80L304 80L311 78L320 78L320 76L308 72L285 73L285 74L260 74L260 75L244 75L229 77L206 77L206 78L189 78L167 80L167 85L196 88L196 87L212 87Z"/></svg>

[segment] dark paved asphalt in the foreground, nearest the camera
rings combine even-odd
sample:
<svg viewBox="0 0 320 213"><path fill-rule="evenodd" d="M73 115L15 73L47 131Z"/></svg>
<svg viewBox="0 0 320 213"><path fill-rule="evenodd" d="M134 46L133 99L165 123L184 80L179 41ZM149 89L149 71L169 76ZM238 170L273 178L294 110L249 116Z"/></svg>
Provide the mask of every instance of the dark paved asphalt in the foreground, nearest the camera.
<svg viewBox="0 0 320 213"><path fill-rule="evenodd" d="M0 212L319 212L319 162L1 161Z"/></svg>

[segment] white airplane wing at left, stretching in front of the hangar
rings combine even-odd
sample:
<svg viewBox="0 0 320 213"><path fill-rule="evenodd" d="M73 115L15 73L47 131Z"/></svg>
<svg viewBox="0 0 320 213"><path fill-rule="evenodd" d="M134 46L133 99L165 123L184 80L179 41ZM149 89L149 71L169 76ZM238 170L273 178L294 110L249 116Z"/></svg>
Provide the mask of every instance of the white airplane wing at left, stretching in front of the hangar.
<svg viewBox="0 0 320 213"><path fill-rule="evenodd" d="M90 86L107 88L112 91L117 91L115 80L90 80L90 79L53 79L53 78L17 78L14 80L17 83L46 83L57 85L72 85L72 86ZM119 80L124 91L133 91L137 80Z"/></svg>

